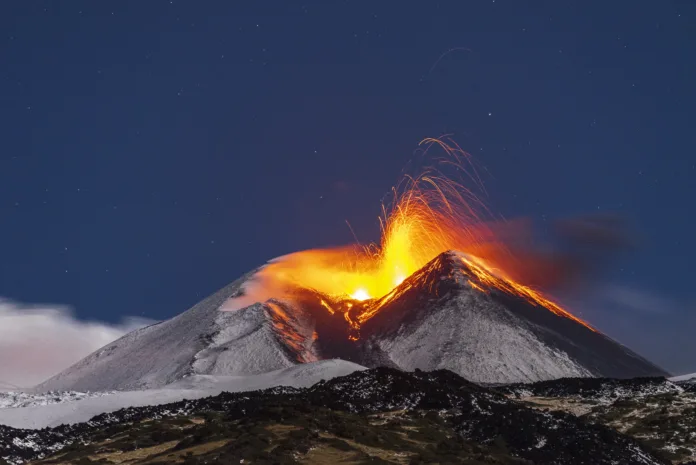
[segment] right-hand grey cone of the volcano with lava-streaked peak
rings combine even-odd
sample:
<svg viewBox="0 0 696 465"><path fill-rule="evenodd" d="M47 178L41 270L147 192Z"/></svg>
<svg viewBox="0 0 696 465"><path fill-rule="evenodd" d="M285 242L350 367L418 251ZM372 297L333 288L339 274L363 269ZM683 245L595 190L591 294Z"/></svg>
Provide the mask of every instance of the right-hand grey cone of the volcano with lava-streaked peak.
<svg viewBox="0 0 696 465"><path fill-rule="evenodd" d="M487 286L458 253L435 258L387 299L361 341L368 357L401 369L445 368L481 383L666 375L599 332Z"/></svg>

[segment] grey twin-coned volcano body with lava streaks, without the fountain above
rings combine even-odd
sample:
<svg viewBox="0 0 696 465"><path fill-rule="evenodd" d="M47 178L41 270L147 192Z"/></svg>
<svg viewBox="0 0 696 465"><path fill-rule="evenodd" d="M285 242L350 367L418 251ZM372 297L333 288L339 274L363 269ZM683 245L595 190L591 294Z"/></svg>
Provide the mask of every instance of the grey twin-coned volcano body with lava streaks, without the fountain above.
<svg viewBox="0 0 696 465"><path fill-rule="evenodd" d="M457 252L440 254L380 299L298 290L292 299L221 311L252 274L127 334L37 390L149 389L191 375L251 375L334 358L445 368L478 383L667 375L572 315L491 284Z"/></svg>

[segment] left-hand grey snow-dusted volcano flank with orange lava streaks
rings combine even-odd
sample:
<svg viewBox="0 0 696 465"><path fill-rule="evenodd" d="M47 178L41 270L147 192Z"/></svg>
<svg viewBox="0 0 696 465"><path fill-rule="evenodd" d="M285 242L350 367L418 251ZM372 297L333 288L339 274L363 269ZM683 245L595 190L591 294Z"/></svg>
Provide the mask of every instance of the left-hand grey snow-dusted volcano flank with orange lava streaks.
<svg viewBox="0 0 696 465"><path fill-rule="evenodd" d="M171 320L127 334L35 391L151 389L189 375L258 374L316 360L313 328L301 310L268 303L219 311L244 279Z"/></svg>

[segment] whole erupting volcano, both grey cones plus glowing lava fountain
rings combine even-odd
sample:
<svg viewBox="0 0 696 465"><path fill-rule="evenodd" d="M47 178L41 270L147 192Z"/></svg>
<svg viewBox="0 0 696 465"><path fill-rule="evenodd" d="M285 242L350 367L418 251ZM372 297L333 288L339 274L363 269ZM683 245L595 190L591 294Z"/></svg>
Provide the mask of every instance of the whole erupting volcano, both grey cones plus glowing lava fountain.
<svg viewBox="0 0 696 465"><path fill-rule="evenodd" d="M393 189L379 244L275 259L38 389L153 388L337 358L449 369L481 383L666 374L548 298L545 291L569 276L573 261L536 252L527 229L497 221L465 182L445 176L448 168L482 190L456 144L422 145L426 155L444 150L441 169ZM611 242L592 226L583 224L579 236L589 230Z"/></svg>

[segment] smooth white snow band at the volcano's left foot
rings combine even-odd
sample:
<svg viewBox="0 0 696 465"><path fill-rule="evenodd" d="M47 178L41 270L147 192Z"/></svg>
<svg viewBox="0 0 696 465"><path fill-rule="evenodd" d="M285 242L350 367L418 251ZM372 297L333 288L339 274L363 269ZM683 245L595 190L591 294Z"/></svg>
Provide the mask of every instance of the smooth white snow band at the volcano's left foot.
<svg viewBox="0 0 696 465"><path fill-rule="evenodd" d="M345 376L365 367L344 360L322 360L250 376L191 375L161 389L119 391L73 401L0 409L0 425L40 429L85 422L127 407L142 407L200 399L221 392L257 391L275 386L310 387L321 380Z"/></svg>

